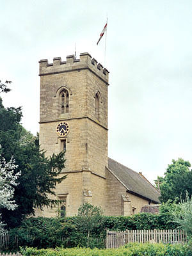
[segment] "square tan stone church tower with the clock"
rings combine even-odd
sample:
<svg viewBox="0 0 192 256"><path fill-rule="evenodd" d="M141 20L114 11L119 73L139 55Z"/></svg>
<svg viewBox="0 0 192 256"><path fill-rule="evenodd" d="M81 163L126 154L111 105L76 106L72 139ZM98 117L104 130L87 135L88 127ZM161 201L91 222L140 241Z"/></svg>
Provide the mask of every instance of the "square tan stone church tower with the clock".
<svg viewBox="0 0 192 256"><path fill-rule="evenodd" d="M40 146L46 155L65 151L67 179L56 186L61 215L84 202L106 208L108 166L108 70L90 56L40 60ZM36 216L55 216L55 209Z"/></svg>

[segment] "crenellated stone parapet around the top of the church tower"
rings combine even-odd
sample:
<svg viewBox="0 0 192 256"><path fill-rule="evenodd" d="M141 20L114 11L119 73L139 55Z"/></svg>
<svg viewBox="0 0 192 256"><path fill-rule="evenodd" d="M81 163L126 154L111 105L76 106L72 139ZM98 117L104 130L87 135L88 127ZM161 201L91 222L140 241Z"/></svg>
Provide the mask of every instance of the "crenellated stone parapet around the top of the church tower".
<svg viewBox="0 0 192 256"><path fill-rule="evenodd" d="M61 61L61 58L57 57L53 58L53 63L48 63L47 59L40 60L39 63L39 76L89 69L96 76L99 76L106 83L108 83L109 71L100 63L97 63L97 60L92 58L88 52L81 53L79 59L76 59L74 55L68 55L66 61Z"/></svg>

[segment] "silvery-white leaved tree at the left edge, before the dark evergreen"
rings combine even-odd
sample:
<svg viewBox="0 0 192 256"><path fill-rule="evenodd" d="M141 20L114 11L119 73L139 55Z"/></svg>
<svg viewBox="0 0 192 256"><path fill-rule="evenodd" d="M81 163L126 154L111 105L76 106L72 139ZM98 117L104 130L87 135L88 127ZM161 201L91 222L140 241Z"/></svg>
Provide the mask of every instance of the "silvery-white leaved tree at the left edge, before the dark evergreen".
<svg viewBox="0 0 192 256"><path fill-rule="evenodd" d="M13 211L17 207L15 200L13 200L13 196L15 190L14 186L18 185L16 180L19 178L20 172L15 173L16 168L17 166L15 165L15 160L13 157L8 163L6 163L5 159L1 157L0 152L0 209L8 209ZM0 221L0 235L4 234L5 232L4 226L5 224Z"/></svg>

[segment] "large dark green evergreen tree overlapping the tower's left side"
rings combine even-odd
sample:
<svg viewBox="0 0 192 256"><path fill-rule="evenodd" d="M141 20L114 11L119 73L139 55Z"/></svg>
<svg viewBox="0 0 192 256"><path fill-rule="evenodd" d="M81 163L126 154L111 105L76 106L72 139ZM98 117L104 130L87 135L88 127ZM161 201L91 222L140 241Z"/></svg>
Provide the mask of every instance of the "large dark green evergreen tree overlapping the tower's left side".
<svg viewBox="0 0 192 256"><path fill-rule="evenodd" d="M38 136L33 136L22 127L21 118L21 108L4 108L0 98L1 155L6 161L13 156L17 165L15 172L21 171L19 185L14 192L17 209L0 209L4 222L10 228L20 225L26 216L34 214L34 207L42 209L44 205L57 204L58 200L50 199L49 195L54 195L56 183L66 177L60 175L65 167L64 153L45 157L45 152L40 150Z"/></svg>

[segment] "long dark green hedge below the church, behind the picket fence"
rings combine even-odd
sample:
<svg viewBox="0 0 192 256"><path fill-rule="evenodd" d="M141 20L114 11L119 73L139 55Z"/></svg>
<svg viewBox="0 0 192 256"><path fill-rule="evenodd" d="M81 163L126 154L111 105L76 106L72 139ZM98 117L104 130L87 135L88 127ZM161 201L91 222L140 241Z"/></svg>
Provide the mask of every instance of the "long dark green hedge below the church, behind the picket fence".
<svg viewBox="0 0 192 256"><path fill-rule="evenodd" d="M134 216L102 216L100 223L92 230L90 247L104 248L102 239L106 238L106 230L125 229L175 229L168 214L141 213ZM86 227L79 225L78 216L70 218L29 218L18 228L10 230L10 239L14 248L15 235L19 246L37 248L55 248L56 246L76 247L87 245ZM99 241L95 241L99 239ZM70 243L67 244L67 241Z"/></svg>

